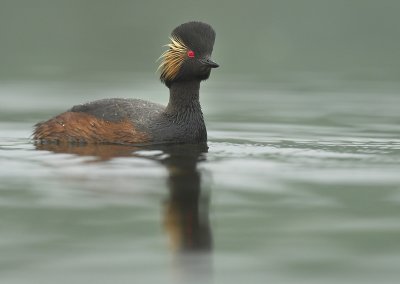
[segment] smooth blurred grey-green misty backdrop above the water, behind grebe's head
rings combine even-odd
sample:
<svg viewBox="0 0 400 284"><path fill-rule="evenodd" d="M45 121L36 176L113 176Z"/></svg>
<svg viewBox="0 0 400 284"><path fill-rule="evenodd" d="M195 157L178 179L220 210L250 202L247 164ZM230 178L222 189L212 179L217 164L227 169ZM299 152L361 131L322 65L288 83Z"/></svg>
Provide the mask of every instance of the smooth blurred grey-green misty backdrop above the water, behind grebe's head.
<svg viewBox="0 0 400 284"><path fill-rule="evenodd" d="M217 33L213 80L400 80L400 1L2 0L0 80L153 80L168 36Z"/></svg>

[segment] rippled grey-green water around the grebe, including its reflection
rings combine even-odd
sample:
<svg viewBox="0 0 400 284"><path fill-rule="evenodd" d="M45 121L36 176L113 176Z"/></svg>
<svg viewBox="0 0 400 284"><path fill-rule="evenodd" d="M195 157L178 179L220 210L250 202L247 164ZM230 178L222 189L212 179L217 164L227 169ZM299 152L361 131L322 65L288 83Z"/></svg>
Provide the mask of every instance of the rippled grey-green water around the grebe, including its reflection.
<svg viewBox="0 0 400 284"><path fill-rule="evenodd" d="M399 90L207 82L208 149L36 149L73 104L165 90L3 82L1 282L396 283Z"/></svg>

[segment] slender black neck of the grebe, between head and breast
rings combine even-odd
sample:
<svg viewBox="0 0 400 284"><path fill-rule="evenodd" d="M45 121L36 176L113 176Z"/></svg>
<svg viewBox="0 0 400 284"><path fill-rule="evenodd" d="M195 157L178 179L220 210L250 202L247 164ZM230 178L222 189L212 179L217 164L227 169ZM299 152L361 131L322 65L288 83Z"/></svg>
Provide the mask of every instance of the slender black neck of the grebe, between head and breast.
<svg viewBox="0 0 400 284"><path fill-rule="evenodd" d="M169 87L169 102L166 113L182 115L201 113L199 101L200 81L174 82Z"/></svg>

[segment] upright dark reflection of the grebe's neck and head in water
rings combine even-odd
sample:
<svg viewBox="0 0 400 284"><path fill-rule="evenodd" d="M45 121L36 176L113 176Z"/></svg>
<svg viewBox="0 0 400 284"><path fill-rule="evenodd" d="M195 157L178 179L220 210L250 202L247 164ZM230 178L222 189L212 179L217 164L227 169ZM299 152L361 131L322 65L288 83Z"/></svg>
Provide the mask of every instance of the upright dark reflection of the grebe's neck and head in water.
<svg viewBox="0 0 400 284"><path fill-rule="evenodd" d="M206 145L178 145L169 148L169 156L162 161L168 169L170 192L164 208L165 228L175 250L211 249L209 195L202 192L197 169L197 163L204 159L202 154L206 151Z"/></svg>

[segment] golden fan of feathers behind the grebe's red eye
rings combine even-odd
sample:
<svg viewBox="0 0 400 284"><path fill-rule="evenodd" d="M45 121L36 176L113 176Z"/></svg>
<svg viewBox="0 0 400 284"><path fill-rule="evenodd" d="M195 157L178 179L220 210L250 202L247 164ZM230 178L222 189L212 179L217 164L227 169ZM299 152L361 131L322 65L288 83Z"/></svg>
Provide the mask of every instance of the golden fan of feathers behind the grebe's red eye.
<svg viewBox="0 0 400 284"><path fill-rule="evenodd" d="M157 69L161 72L160 79L163 82L175 79L189 50L180 38L172 36L170 40L171 42L166 45L169 49L161 54L159 59L162 62Z"/></svg>

